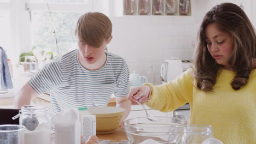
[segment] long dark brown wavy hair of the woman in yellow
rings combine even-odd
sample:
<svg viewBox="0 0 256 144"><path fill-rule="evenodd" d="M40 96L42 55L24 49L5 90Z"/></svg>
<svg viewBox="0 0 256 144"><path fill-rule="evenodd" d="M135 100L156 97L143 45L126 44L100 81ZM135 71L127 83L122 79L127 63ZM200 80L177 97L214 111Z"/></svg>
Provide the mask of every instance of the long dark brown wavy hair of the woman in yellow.
<svg viewBox="0 0 256 144"><path fill-rule="evenodd" d="M222 67L207 49L205 30L210 23L215 23L220 31L231 35L234 50L228 64L235 71L235 75L230 85L238 90L246 85L255 67L253 64L253 59L256 58L255 30L245 12L236 4L222 3L205 14L197 35L197 47L193 58L196 87L205 92L213 91L218 70Z"/></svg>

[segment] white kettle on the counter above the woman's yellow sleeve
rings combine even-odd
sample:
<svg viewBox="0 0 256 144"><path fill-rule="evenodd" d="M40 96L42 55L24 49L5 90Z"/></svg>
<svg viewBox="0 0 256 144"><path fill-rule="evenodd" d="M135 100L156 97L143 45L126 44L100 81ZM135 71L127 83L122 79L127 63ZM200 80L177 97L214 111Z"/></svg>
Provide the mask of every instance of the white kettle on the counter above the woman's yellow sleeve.
<svg viewBox="0 0 256 144"><path fill-rule="evenodd" d="M183 73L181 59L172 57L165 60L161 65L162 83L167 83L170 80L176 79L177 76Z"/></svg>

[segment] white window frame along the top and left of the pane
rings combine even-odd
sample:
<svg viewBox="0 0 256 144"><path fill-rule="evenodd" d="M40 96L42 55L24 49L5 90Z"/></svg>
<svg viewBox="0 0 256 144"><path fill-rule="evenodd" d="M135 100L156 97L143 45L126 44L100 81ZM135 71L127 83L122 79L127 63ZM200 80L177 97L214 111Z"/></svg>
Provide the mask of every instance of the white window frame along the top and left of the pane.
<svg viewBox="0 0 256 144"><path fill-rule="evenodd" d="M1 11L9 11L11 25L11 51L9 57L16 64L19 61L21 52L31 50L31 22L30 14L26 11L25 5L31 8L31 11L48 12L46 3L36 3L31 0L9 0L9 2L0 2ZM95 1L88 0L86 4L82 3L48 3L51 13L85 13L86 11L94 11ZM33 17L32 17L33 19Z"/></svg>

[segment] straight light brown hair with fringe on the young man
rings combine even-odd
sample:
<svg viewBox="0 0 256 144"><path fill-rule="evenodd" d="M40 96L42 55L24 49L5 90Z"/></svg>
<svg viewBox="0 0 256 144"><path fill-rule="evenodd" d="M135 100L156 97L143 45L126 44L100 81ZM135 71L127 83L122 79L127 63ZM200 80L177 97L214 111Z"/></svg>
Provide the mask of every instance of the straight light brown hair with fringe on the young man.
<svg viewBox="0 0 256 144"><path fill-rule="evenodd" d="M84 44L100 47L103 40L108 41L112 33L112 23L102 13L86 13L79 17L75 35Z"/></svg>

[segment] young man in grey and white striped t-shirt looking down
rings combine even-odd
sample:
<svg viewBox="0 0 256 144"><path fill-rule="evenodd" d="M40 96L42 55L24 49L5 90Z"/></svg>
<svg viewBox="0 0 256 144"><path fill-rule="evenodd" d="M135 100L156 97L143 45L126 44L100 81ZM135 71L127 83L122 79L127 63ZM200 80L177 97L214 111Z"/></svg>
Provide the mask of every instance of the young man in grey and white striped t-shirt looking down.
<svg viewBox="0 0 256 144"><path fill-rule="evenodd" d="M125 119L131 109L129 69L123 58L105 51L111 33L112 23L106 15L80 16L75 29L79 49L38 70L14 98L14 107L21 109L37 95L50 92L53 113L58 113L71 107L107 106L114 93L117 106L126 109Z"/></svg>

